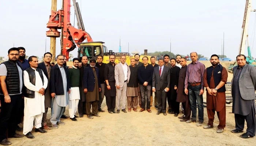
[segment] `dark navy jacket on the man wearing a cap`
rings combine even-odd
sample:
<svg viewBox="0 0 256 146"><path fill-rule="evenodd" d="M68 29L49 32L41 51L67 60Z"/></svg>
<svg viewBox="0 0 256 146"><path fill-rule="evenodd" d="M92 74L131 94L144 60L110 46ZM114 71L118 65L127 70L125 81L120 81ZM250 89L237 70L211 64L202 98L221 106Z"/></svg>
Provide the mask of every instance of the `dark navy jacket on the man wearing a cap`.
<svg viewBox="0 0 256 146"><path fill-rule="evenodd" d="M99 78L99 69L95 67L97 78L98 78L98 88L101 88L101 81ZM95 76L93 73L93 69L91 67L87 67L84 69L84 74L83 74L83 87L87 88L88 92L93 92L94 86L95 86Z"/></svg>

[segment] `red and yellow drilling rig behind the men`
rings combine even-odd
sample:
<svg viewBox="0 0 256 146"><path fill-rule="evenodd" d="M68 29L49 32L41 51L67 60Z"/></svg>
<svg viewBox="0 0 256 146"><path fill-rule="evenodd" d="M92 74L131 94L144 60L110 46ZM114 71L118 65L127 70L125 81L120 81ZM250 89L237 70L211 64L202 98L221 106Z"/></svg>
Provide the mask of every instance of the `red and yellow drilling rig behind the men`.
<svg viewBox="0 0 256 146"><path fill-rule="evenodd" d="M55 1L55 3L53 2ZM56 0L52 0L52 7L56 8ZM78 22L78 28L75 28L72 26L70 22L70 0L62 0L62 9L58 11L54 11L52 9L51 15L49 17L49 21L47 23L47 28L49 28L48 31L46 31L46 36L51 37L51 39L55 39L54 42L51 41L51 46L56 46L56 38L60 37L61 41L61 54L64 55L67 58L67 61L69 59L69 52L74 50L76 46L78 46L78 58L81 60L83 56L87 56L88 59L91 58L97 58L99 55L103 56L103 62L108 63L109 62L109 55L116 55L116 63L120 62L121 55L125 55L126 62L129 65L130 64L130 56L127 52L118 52L114 53L112 50L107 49L107 47L104 44L104 42L98 41L93 42L93 39L91 38L90 34L85 31L82 15L80 12L80 8L76 0L73 0L74 4L74 10ZM58 31L58 29L61 29L61 32ZM54 45L55 43L55 45ZM52 47L51 47L52 49ZM53 50L51 50L51 53L53 54L53 62L55 61L55 50L56 48L53 47ZM144 53L144 55L147 55ZM142 57L140 57L140 61L142 61ZM149 62L150 62L150 56Z"/></svg>

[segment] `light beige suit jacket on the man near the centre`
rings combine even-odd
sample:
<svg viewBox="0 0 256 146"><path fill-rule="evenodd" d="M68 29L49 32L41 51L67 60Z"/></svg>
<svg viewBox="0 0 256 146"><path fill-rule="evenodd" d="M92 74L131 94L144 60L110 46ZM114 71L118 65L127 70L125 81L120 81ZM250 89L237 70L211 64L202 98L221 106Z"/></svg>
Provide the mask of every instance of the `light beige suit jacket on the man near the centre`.
<svg viewBox="0 0 256 146"><path fill-rule="evenodd" d="M126 63L125 63L125 65L128 68L127 82L129 82L131 70ZM122 66L121 62L115 66L115 80L116 80L116 86L119 85L120 88L123 88L123 86L124 86L124 70L123 70L123 66Z"/></svg>

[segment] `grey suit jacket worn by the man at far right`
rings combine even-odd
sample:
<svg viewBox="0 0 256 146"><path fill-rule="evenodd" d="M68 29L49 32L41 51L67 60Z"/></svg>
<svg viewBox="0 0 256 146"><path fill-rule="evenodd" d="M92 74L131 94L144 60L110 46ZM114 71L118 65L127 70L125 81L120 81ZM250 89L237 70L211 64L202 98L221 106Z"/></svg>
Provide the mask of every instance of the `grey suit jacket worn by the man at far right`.
<svg viewBox="0 0 256 146"><path fill-rule="evenodd" d="M237 72L238 66L233 68L233 78L234 74ZM233 85L233 78L231 81L231 93L232 92L232 85ZM239 77L239 90L242 99L244 100L254 100L255 97L255 90L256 90L256 68L255 66L245 64L242 69L241 75Z"/></svg>

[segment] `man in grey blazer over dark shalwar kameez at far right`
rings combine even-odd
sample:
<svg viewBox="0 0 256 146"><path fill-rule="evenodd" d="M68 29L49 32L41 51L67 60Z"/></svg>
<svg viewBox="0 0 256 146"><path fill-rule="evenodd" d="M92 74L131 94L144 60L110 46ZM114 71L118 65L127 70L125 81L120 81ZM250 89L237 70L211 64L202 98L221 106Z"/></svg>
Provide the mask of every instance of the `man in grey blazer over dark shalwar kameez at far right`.
<svg viewBox="0 0 256 146"><path fill-rule="evenodd" d="M256 68L246 64L245 55L237 55L238 66L234 67L231 81L231 93L233 97L232 112L235 114L236 129L233 133L240 133L244 130L246 120L246 133L240 135L241 138L251 138L255 136L256 130Z"/></svg>

